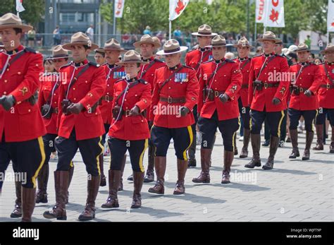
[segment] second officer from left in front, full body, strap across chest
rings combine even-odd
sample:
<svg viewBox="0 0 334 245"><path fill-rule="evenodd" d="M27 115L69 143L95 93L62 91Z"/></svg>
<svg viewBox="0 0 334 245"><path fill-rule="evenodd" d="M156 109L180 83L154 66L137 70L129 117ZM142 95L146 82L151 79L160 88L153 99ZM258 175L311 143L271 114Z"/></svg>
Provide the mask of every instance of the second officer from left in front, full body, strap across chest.
<svg viewBox="0 0 334 245"><path fill-rule="evenodd" d="M58 164L54 172L56 205L44 212L48 219L66 220L66 194L68 191L68 169L78 148L86 165L87 203L79 220L92 220L95 217L95 199L99 191L99 155L103 153L101 136L104 133L99 99L106 90L104 69L87 60L91 50L97 49L89 37L82 32L75 33L70 43L63 49L72 52L73 61L59 70L66 76L61 81L58 100L58 137L56 150Z"/></svg>

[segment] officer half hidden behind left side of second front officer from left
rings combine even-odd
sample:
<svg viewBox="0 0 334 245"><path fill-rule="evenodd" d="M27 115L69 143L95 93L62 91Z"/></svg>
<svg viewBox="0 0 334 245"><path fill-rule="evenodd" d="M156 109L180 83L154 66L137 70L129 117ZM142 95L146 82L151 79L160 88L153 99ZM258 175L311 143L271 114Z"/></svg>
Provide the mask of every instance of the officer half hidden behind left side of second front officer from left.
<svg viewBox="0 0 334 245"><path fill-rule="evenodd" d="M59 69L61 66L68 64L68 51L63 49L61 45L57 45L52 50L51 59L54 61L55 73L49 73L44 76L39 88L38 106L41 109L44 124L47 128L47 134L43 136L45 162L40 169L37 182L38 191L36 203L47 203L47 182L49 180L49 160L51 153L56 151L54 140L57 137L57 118L58 118L58 95L59 85L61 83L61 74ZM74 166L71 164L69 170L69 183L73 177Z"/></svg>

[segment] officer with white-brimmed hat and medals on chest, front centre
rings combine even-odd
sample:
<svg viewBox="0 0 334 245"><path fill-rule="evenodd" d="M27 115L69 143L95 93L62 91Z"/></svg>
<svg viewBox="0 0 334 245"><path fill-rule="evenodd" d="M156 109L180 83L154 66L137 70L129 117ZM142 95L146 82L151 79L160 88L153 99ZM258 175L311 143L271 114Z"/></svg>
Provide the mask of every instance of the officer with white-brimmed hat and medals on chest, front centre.
<svg viewBox="0 0 334 245"><path fill-rule="evenodd" d="M180 47L177 40L168 40L158 55L165 56L166 66L156 70L154 92L151 105L151 141L156 146L155 168L157 181L150 193L164 193L166 172L166 154L171 138L174 141L175 155L178 158L178 181L174 195L185 193L185 172L187 171L187 150L192 144L191 112L197 103L199 84L196 71L180 64L181 52L187 47Z"/></svg>

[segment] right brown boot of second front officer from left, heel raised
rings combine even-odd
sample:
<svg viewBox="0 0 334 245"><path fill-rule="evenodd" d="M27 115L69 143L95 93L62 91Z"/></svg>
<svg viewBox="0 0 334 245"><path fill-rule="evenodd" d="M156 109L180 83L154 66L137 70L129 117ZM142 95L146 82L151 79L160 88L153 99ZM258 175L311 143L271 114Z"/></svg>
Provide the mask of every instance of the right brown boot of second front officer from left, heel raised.
<svg viewBox="0 0 334 245"><path fill-rule="evenodd" d="M101 175L91 176L87 181L87 201L85 210L79 215L78 220L92 220L95 218L95 200L97 199L97 193L99 192L99 186L101 182Z"/></svg>

